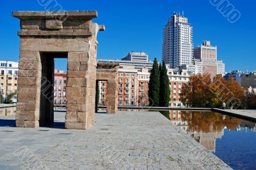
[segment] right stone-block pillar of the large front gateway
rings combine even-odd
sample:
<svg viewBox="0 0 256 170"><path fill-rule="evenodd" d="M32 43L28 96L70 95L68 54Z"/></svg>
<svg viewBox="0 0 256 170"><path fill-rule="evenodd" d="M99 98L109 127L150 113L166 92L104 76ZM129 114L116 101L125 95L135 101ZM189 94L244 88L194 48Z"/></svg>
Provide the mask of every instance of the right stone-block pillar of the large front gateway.
<svg viewBox="0 0 256 170"><path fill-rule="evenodd" d="M68 53L67 129L87 129L94 125L96 64L93 61L96 59L90 53Z"/></svg>

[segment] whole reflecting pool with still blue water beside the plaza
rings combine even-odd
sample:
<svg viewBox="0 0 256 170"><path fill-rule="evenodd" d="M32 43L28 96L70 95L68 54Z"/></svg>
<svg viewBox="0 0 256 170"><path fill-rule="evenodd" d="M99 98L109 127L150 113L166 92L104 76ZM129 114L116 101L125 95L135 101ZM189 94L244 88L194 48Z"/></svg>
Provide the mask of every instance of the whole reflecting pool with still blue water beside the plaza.
<svg viewBox="0 0 256 170"><path fill-rule="evenodd" d="M256 124L211 111L160 111L233 169L255 169Z"/></svg>

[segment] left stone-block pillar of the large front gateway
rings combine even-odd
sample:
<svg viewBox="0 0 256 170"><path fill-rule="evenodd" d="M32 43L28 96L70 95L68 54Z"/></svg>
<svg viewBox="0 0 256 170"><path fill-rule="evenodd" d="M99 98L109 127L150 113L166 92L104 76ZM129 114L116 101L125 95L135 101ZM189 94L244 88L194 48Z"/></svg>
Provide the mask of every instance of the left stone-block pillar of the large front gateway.
<svg viewBox="0 0 256 170"><path fill-rule="evenodd" d="M17 127L39 126L41 71L39 52L20 51Z"/></svg>

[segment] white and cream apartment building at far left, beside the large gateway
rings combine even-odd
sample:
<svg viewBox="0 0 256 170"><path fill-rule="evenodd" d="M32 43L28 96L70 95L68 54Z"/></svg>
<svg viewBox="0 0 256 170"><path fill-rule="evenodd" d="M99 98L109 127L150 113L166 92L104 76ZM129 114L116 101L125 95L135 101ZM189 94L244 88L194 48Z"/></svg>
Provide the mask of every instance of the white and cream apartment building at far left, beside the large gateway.
<svg viewBox="0 0 256 170"><path fill-rule="evenodd" d="M19 62L0 60L0 92L3 96L17 92ZM13 97L17 102L17 95Z"/></svg>

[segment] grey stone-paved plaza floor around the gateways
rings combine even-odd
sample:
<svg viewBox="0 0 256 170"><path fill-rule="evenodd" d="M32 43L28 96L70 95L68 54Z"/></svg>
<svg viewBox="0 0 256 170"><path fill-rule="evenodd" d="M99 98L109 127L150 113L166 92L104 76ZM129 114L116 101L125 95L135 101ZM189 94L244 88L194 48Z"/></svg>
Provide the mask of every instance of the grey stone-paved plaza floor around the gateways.
<svg viewBox="0 0 256 170"><path fill-rule="evenodd" d="M97 113L95 126L17 128L0 117L0 169L230 169L158 112Z"/></svg>

